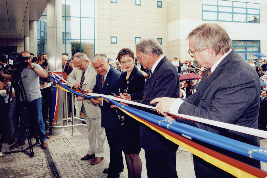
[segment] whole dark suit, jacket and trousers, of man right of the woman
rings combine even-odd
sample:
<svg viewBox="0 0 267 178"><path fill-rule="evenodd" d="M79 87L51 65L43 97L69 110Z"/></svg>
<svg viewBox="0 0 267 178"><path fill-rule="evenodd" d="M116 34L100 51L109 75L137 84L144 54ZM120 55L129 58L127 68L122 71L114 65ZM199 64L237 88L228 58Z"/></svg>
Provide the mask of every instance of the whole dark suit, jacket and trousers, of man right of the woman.
<svg viewBox="0 0 267 178"><path fill-rule="evenodd" d="M158 97L179 98L178 72L166 57L160 60L149 81L146 81L143 99L137 102L152 106L150 101ZM145 149L147 176L149 178L177 177L176 151L178 145L144 125L140 126L140 139L141 147Z"/></svg>

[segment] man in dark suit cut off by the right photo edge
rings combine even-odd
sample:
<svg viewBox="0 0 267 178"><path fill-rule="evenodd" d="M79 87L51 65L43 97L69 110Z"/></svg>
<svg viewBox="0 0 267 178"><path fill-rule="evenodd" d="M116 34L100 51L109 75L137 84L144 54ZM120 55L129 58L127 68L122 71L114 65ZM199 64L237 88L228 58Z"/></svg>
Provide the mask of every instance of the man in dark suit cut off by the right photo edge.
<svg viewBox="0 0 267 178"><path fill-rule="evenodd" d="M260 109L259 109L259 129L263 131L267 131L266 121L267 121L267 90L261 91L260 97ZM260 137L260 139L263 139Z"/></svg>

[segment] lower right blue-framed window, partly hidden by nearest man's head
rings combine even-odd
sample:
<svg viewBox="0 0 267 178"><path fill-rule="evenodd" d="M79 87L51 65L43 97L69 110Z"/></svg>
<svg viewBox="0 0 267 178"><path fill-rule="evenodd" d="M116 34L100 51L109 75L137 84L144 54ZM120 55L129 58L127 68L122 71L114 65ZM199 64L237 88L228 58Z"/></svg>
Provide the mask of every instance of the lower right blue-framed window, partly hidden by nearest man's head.
<svg viewBox="0 0 267 178"><path fill-rule="evenodd" d="M232 40L232 47L245 60L255 60L254 54L260 53L260 41Z"/></svg>

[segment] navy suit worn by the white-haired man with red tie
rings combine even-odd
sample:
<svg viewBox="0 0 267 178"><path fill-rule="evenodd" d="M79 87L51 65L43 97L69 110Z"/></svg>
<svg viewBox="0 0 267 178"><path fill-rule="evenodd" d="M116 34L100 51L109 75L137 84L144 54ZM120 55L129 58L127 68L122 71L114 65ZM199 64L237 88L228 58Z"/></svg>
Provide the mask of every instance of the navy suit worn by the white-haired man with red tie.
<svg viewBox="0 0 267 178"><path fill-rule="evenodd" d="M106 80L102 88L102 75L96 75L96 85L93 89L94 93L104 95L112 95L118 93L120 88L120 75L121 73L110 67ZM99 104L101 109L101 126L105 128L107 141L109 143L110 161L108 169L108 178L120 177L120 169L123 169L122 150L119 148L119 134L120 123L116 117L116 108L111 108L111 103L103 100L103 106Z"/></svg>

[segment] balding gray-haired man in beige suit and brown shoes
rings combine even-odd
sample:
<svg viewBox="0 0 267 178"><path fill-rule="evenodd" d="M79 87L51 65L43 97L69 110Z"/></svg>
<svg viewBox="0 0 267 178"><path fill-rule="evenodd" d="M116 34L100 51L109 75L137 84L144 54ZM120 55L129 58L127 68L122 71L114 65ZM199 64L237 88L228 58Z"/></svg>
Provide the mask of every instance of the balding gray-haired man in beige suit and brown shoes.
<svg viewBox="0 0 267 178"><path fill-rule="evenodd" d="M76 89L91 89L96 84L96 71L90 59L84 53L76 53L73 56L75 68L67 77L69 86ZM99 163L104 158L106 149L106 133L101 127L101 111L98 104L90 99L77 96L79 113L83 110L83 117L88 129L89 148L87 155L82 160L93 158L91 165Z"/></svg>

